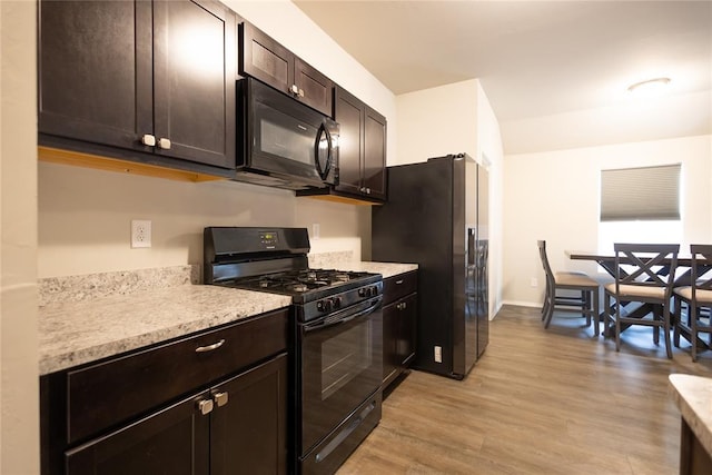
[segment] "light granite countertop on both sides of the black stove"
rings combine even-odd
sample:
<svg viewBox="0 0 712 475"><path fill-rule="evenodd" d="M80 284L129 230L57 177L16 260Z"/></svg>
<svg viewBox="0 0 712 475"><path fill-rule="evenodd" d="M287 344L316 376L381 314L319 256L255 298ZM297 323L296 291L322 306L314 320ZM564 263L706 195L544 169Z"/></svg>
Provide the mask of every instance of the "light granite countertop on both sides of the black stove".
<svg viewBox="0 0 712 475"><path fill-rule="evenodd" d="M329 264L343 270L378 273L384 278L417 269L413 264ZM196 267L42 279L40 375L284 308L291 303L291 298L284 295L199 285Z"/></svg>

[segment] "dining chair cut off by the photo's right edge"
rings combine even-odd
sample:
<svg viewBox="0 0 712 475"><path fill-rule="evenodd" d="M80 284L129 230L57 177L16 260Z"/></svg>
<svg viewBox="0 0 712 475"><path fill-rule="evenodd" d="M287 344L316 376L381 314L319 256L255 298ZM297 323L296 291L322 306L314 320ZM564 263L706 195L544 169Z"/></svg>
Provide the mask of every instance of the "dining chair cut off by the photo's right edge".
<svg viewBox="0 0 712 475"><path fill-rule="evenodd" d="M680 347L680 335L691 344L692 360L698 360L698 336L709 335L706 346L712 346L712 245L692 244L691 285L675 287L674 345ZM686 309L683 316L683 305Z"/></svg>

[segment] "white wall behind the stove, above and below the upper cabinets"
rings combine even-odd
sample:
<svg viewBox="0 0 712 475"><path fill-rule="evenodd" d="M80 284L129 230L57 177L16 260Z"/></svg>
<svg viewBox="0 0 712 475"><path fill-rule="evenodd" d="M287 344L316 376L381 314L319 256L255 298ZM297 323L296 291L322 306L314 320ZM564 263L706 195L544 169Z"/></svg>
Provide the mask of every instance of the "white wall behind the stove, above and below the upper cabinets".
<svg viewBox="0 0 712 475"><path fill-rule="evenodd" d="M395 126L393 93L294 3L225 3ZM388 135L388 154L395 154L395 135ZM150 249L130 248L131 219L151 220ZM320 238L312 240L312 253L349 250L358 259L368 246L369 207L240 182L190 184L39 164L39 277L201 263L202 228L210 225L312 229L314 224Z"/></svg>

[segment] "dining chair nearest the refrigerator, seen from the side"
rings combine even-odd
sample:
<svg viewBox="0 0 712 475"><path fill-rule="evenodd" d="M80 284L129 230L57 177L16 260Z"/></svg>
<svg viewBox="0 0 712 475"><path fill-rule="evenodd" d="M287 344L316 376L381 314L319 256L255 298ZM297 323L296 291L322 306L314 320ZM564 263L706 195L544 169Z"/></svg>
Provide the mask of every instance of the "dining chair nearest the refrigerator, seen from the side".
<svg viewBox="0 0 712 475"><path fill-rule="evenodd" d="M538 256L546 275L546 290L542 306L544 328L548 328L554 310L576 311L591 325L593 317L593 336L599 336L599 283L581 271L552 271L546 257L546 241L536 241ZM575 294L571 295L574 291Z"/></svg>

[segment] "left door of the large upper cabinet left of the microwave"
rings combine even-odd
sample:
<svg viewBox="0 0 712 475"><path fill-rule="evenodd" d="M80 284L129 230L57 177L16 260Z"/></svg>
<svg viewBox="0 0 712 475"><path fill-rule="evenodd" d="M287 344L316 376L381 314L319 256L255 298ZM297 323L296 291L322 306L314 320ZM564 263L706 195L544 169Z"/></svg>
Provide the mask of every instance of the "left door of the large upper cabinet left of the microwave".
<svg viewBox="0 0 712 475"><path fill-rule="evenodd" d="M40 2L39 131L150 151L151 42L149 2Z"/></svg>

